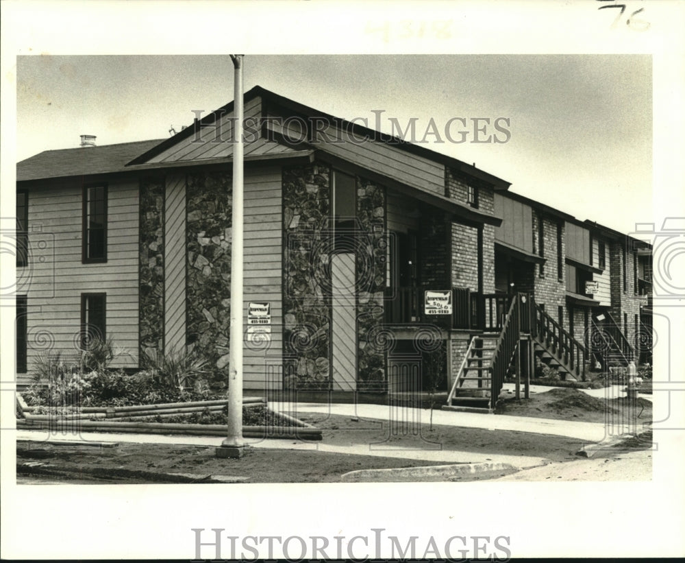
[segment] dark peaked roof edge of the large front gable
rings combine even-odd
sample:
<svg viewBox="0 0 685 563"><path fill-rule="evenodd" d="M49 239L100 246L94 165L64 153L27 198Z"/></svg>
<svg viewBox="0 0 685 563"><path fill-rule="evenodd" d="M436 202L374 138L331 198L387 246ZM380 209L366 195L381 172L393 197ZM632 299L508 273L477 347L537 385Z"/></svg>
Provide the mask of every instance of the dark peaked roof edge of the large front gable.
<svg viewBox="0 0 685 563"><path fill-rule="evenodd" d="M297 101L293 101L292 99L283 97L269 90L266 90L265 88L262 88L262 86L254 86L249 91L247 91L244 95L244 103L247 105L249 101L255 99L256 97L261 97L263 100L266 100L267 106L275 105L279 106L280 108L289 110L290 112L296 115L303 115L305 117L316 117L325 119L329 121L329 123L338 123L346 132L351 132L359 137L368 137L369 139L373 139L372 142L393 145L393 147L397 147L398 149L406 151L410 154L414 154L422 158L427 158L428 160L440 163L441 165L445 165L451 169L458 170L461 173L466 174L467 176L471 176L472 178L476 178L477 180L487 182L488 184L491 184L495 189L506 190L511 185L510 182L506 182L505 180L497 178L497 176L493 176L492 174L487 173L486 171L477 169L475 166L464 163L462 162L462 160L458 160L457 158L445 156L444 154L432 151L430 149L422 147L421 145L416 145L414 143L404 141L403 139L400 139L397 136L381 133L366 128L363 125L360 125L359 123L351 123L349 121L346 121L345 119L340 119L339 117L329 115L325 112L321 112L309 106L299 104L299 102ZM134 158L134 160L132 160L129 163L129 165L149 163L149 161L155 158L155 156L158 156L165 151L169 151L169 149L171 149L174 145L177 145L185 139L188 139L188 137L190 137L191 135L196 134L199 128L201 129L206 125L212 125L213 123L216 123L217 119L221 119L221 117L223 117L224 115L232 112L233 109L234 102L230 101L228 104L225 104L225 106L221 106L221 108L214 110L212 113L206 115L202 119L199 119L199 121L195 121L195 123L193 123L190 127L185 128L184 130L178 132L169 139L165 139L159 145L151 147L151 149L149 149L147 152L140 154L140 156L138 156L137 158Z"/></svg>

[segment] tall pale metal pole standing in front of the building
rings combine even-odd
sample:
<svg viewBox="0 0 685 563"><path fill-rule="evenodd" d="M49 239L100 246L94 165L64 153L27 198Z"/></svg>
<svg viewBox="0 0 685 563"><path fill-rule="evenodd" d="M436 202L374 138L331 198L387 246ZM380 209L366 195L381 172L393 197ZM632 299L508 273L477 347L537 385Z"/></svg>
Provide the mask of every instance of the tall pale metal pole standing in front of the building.
<svg viewBox="0 0 685 563"><path fill-rule="evenodd" d="M242 438L242 55L231 55L234 66L234 136L231 245L231 327L229 332L228 433L218 457L241 457Z"/></svg>

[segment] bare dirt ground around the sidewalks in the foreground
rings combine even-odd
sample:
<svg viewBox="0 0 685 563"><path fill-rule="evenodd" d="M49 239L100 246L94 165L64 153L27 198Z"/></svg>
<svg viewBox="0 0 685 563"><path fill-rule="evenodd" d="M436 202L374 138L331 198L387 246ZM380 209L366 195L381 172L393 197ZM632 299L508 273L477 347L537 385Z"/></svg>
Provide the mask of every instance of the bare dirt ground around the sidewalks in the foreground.
<svg viewBox="0 0 685 563"><path fill-rule="evenodd" d="M499 416L516 415L603 422L605 400L575 389L553 389L535 394L529 400L504 400ZM612 416L624 416L643 422L651 420L651 403L623 400L610 402ZM495 415L498 416L498 415ZM420 427L391 427L387 421L364 420L349 416L300 414L299 418L323 431L321 444L351 446L386 444L402 448L422 448L428 443L441 444L446 451L473 452L474 461L484 454L544 457L551 462L577 462L575 454L587 442L560 436L517 431L490 431L477 428L447 427L427 423ZM427 416L423 420L427 420ZM217 444L219 440L217 440ZM651 433L612 448L602 457L615 457L651 446ZM173 446L169 444L127 444L115 447L52 445L43 442L18 442L17 474L19 482L32 480L78 483L151 483L211 482L210 476L225 475L250 483L322 483L339 482L345 472L357 469L399 468L439 465L423 459L398 459L375 455L353 455L321 451L249 448L242 459L218 459L209 446ZM30 465L27 465L30 464ZM38 465L40 464L40 465ZM192 474L194 477L160 477L160 474ZM156 477L155 477L156 476ZM501 474L466 477L475 481L501 477Z"/></svg>

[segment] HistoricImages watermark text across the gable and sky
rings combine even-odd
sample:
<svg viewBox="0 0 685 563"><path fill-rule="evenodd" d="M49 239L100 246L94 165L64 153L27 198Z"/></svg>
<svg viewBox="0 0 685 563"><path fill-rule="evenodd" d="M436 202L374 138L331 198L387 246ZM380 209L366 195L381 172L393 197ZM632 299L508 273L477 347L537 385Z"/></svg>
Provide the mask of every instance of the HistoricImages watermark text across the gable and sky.
<svg viewBox="0 0 685 563"><path fill-rule="evenodd" d="M226 115L227 110L216 110L203 116L204 110L192 110L195 121L191 125L192 143L236 143L237 118ZM430 117L421 121L410 117L400 122L397 117L386 117L386 110L371 110L373 128L368 117L345 120L328 115L307 117L290 115L248 116L242 120L242 141L253 143L260 136L270 141L297 145L299 143L352 143L362 145L369 141L382 141L390 145L411 143L444 144L462 143L504 144L512 138L510 117L449 117L440 121ZM210 129L214 135L203 135ZM390 130L382 133L381 130Z"/></svg>

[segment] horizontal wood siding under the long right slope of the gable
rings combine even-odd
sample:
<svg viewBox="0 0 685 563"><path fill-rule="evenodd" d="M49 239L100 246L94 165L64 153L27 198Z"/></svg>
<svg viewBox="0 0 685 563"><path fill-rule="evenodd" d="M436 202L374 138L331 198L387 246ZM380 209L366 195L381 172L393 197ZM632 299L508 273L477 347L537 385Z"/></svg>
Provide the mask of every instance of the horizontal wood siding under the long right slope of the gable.
<svg viewBox="0 0 685 563"><path fill-rule="evenodd" d="M285 132L293 140L302 138L301 132L292 121L286 123L285 128L274 122L271 128L275 132ZM322 131L319 138L323 140L310 143L314 147L408 186L445 195L444 165L387 143L360 142L333 125L323 127Z"/></svg>

